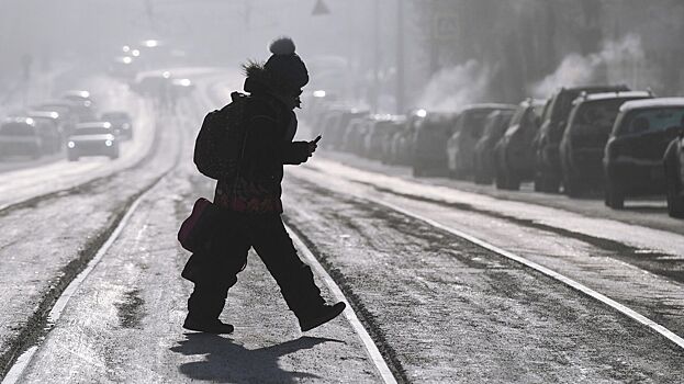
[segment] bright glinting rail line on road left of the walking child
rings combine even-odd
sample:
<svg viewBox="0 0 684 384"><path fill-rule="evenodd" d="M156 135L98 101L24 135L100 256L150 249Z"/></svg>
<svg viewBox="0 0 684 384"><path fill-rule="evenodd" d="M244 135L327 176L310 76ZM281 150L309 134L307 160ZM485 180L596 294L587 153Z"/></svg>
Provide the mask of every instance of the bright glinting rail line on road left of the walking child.
<svg viewBox="0 0 684 384"><path fill-rule="evenodd" d="M78 291L80 284L88 278L90 272L92 272L92 270L100 263L100 261L102 260L102 257L106 253L106 251L114 244L114 241L116 241L116 239L119 238L119 235L121 235L123 228L126 226L126 224L128 224L128 221L131 219L131 217L133 216L133 214L137 210L137 206L141 204L143 199L145 199L145 196L153 190L153 188L159 181L161 181L162 179L164 178L159 178L157 180L157 182L155 182L153 185L150 185L147 191L145 191L143 194L141 194L135 200L135 202L133 202L133 204L131 205L128 211L126 211L126 214L123 216L121 222L119 222L119 224L116 225L116 228L114 229L114 231L110 235L110 237L102 245L102 247L100 247L100 249L98 250L96 256L92 258L92 260L90 260L88 262L88 266L86 267L86 269L82 270L81 273L79 273L76 276L76 279L74 279L69 283L69 285L66 287L66 290L64 290L64 292L61 293L61 295L59 296L59 298L57 300L57 302L55 303L55 305L51 309L49 314L47 315L47 323L48 324L53 324L54 325L55 323L57 323L57 320L61 316L61 313L64 312L64 308L66 307L66 305L69 302L69 300L76 294L76 291ZM21 379L21 375L23 374L24 370L31 363L31 360L33 359L33 355L35 354L37 349L38 349L37 346L33 346L33 347L29 348L24 353L22 353L19 357L19 359L16 359L16 362L14 362L14 364L10 369L10 372L8 372L8 374L2 380L2 384L14 384L14 383L18 383L19 380Z"/></svg>

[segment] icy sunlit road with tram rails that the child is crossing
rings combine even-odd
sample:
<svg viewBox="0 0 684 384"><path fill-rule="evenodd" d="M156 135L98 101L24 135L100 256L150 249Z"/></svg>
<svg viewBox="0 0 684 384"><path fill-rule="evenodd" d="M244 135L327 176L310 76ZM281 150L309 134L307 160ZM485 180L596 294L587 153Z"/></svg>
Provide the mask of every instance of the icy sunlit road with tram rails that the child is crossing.
<svg viewBox="0 0 684 384"><path fill-rule="evenodd" d="M324 295L339 289L349 302L346 316L300 332L250 255L222 315L235 332L183 331L191 284L175 236L213 188L192 165L194 134L239 83L197 77L195 97L172 116L137 101L155 137L139 158L96 160L72 184L40 172L72 171L65 163L20 170L52 189L18 181L15 197L0 194L5 382L681 382L680 222L413 179L323 150L288 167L284 218L300 255L334 281L316 273Z"/></svg>

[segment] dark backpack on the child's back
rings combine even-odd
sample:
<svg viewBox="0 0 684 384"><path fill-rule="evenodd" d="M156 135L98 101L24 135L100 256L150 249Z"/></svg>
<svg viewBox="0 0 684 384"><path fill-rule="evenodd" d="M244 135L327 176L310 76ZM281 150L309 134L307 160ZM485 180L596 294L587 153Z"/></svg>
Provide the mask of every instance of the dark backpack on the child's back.
<svg viewBox="0 0 684 384"><path fill-rule="evenodd" d="M194 142L198 170L214 180L236 177L246 139L245 106L249 95L233 92L231 103L206 114Z"/></svg>

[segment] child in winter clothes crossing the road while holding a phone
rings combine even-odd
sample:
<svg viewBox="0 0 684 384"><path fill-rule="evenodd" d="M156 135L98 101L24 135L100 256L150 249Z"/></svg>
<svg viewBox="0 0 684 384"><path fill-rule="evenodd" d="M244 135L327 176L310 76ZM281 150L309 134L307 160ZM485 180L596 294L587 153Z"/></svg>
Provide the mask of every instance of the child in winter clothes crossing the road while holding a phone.
<svg viewBox="0 0 684 384"><path fill-rule="evenodd" d="M270 45L270 52L266 63L243 66L248 94L233 93L234 103L244 103L240 124L246 134L237 176L217 178L214 204L222 208L218 223L208 246L194 251L182 272L194 283L186 329L233 331L233 326L218 316L253 247L276 279L302 331L332 320L345 309L345 303L325 303L311 268L300 260L281 219L283 165L305 162L316 150L317 139L293 142L294 109L300 106L302 87L309 82L294 43L281 37Z"/></svg>

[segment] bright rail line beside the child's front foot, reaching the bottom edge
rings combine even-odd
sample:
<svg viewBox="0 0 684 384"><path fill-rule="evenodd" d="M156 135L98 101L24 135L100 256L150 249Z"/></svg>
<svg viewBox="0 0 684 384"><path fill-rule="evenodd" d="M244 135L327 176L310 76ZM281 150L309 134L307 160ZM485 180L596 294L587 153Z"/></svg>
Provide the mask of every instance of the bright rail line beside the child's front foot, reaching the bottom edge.
<svg viewBox="0 0 684 384"><path fill-rule="evenodd" d="M382 354L380 354L380 351L373 342L373 339L371 339L370 335L368 335L368 331L366 331L366 328L363 328L363 325L361 325L361 321L359 321L359 318L351 308L351 305L349 305L349 302L345 297L345 294L341 292L339 286L337 286L333 278L330 278L330 275L325 271L323 266L321 266L318 260L316 260L316 258L306 247L306 245L304 245L302 239L300 239L299 236L296 236L296 234L289 226L285 226L285 228L288 229L288 233L290 233L290 237L292 237L294 246L300 250L300 252L302 252L302 256L304 256L310 266L316 271L316 274L318 274L318 276L325 282L335 298L347 304L347 308L344 312L345 317L347 317L347 320L349 321L354 330L356 330L357 335L359 335L359 338L363 342L363 346L366 347L366 350L368 351L371 360L375 364L375 368L378 369L382 380L388 384L396 384L396 379L394 379L392 371L390 371L390 368L382 358Z"/></svg>

